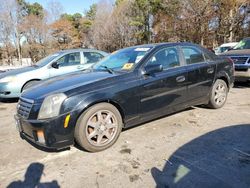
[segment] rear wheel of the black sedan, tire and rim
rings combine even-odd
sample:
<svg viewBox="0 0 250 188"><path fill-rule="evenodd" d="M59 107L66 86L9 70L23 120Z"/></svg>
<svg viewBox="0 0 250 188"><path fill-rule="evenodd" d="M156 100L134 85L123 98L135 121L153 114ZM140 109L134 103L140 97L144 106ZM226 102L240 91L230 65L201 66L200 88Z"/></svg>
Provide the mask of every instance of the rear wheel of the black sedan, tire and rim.
<svg viewBox="0 0 250 188"><path fill-rule="evenodd" d="M227 95L228 86L226 82L221 79L216 80L210 93L208 107L212 109L223 107L227 101Z"/></svg>

